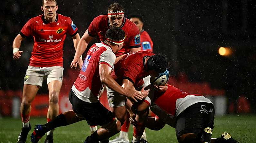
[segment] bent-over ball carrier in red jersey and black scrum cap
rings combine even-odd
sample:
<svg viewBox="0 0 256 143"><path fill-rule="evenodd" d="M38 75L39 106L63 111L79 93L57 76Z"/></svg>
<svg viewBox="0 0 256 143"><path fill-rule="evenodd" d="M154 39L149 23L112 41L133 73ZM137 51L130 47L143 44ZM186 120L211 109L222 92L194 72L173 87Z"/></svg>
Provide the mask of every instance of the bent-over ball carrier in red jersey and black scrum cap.
<svg viewBox="0 0 256 143"><path fill-rule="evenodd" d="M143 78L148 75L156 76L159 73L163 73L167 66L167 59L162 55L155 55L149 51L130 52L115 64L115 79L124 88L132 86L139 88L144 85ZM107 89L107 94L110 110L121 123L124 123L127 118L125 105L129 109L132 105L132 100L128 100L125 96L111 89ZM144 129L138 131L136 133L137 138L133 139L133 141L139 141L143 131ZM119 142L125 141L119 140Z"/></svg>

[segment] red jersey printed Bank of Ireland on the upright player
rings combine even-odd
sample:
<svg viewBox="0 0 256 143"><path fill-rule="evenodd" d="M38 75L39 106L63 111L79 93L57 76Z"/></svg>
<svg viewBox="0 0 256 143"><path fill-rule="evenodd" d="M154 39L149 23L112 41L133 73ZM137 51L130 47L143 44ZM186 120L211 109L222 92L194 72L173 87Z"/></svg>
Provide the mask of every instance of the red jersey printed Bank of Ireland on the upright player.
<svg viewBox="0 0 256 143"><path fill-rule="evenodd" d="M49 23L43 14L34 17L20 31L22 37L33 36L34 46L30 66L52 67L63 66L63 44L66 34L75 36L78 28L71 18L56 14L55 22Z"/></svg>

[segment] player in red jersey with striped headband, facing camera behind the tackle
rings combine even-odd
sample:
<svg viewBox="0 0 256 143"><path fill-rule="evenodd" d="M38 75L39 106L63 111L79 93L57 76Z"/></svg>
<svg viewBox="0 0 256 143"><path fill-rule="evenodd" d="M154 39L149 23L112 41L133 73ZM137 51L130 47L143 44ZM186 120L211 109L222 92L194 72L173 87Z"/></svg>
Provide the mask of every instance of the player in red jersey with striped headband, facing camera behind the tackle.
<svg viewBox="0 0 256 143"><path fill-rule="evenodd" d="M118 61L121 55L128 52L140 51L140 32L139 28L127 18L124 18L124 8L119 3L110 4L108 7L108 15L100 15L92 20L89 27L78 44L77 50L89 44L93 37L97 36L98 40L104 41L106 39L105 33L111 27L119 27L125 31L125 42L123 48L116 53ZM79 61L72 61L72 65L76 66ZM81 65L79 63L79 65ZM81 67L79 67L81 68ZM90 127L91 132L97 130L97 126Z"/></svg>

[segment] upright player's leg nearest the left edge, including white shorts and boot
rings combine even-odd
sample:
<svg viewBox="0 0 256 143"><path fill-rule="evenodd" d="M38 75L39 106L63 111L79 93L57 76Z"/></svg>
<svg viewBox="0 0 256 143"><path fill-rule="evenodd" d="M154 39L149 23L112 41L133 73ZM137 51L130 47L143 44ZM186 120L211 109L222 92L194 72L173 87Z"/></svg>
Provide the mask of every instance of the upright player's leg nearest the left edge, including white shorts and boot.
<svg viewBox="0 0 256 143"><path fill-rule="evenodd" d="M43 84L43 76L44 75L41 73L41 68L28 66L26 75L24 77L23 95L20 107L23 128L18 136L18 143L23 143L26 141L27 134L31 129L29 123L31 103L34 100L40 86Z"/></svg>

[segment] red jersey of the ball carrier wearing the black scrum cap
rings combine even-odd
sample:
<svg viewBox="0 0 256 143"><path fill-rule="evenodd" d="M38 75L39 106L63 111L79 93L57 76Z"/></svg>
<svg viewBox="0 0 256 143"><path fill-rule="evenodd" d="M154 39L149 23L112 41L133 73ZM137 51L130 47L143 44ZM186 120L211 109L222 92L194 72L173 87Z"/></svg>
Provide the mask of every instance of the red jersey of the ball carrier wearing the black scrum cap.
<svg viewBox="0 0 256 143"><path fill-rule="evenodd" d="M143 78L147 77L149 73L146 71L145 59L153 54L149 51L137 51L130 52L122 57L115 64L115 75L117 81L122 83L122 80L128 79L134 85L134 87L140 87L144 81Z"/></svg>

